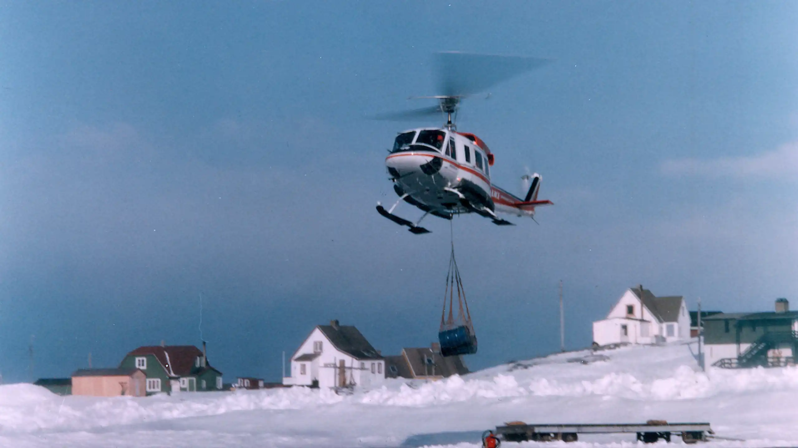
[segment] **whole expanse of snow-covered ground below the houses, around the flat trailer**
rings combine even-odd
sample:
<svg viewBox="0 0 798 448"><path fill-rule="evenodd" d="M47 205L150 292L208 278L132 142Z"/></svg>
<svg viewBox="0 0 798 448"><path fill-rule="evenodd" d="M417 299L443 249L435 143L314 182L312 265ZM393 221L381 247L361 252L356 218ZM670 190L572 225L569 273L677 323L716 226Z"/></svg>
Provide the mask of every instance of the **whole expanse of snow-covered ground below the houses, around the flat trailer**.
<svg viewBox="0 0 798 448"><path fill-rule="evenodd" d="M695 344L571 352L438 382L148 398L0 386L0 446L479 446L503 422L710 422L710 446L798 446L798 368L698 371ZM604 358L606 356L606 359ZM584 360L587 364L573 362ZM674 439L675 440L675 439ZM636 444L583 436L569 448ZM664 442L663 442L664 443ZM678 442L678 443L681 443ZM548 446L562 442L505 446Z"/></svg>

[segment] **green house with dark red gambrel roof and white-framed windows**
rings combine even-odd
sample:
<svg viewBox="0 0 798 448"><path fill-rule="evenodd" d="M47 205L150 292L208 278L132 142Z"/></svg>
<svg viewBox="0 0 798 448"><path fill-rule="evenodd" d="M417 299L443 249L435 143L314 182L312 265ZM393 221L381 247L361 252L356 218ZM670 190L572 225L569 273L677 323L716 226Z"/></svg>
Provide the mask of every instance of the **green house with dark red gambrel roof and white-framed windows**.
<svg viewBox="0 0 798 448"><path fill-rule="evenodd" d="M139 347L124 356L119 367L144 371L147 395L222 390L222 372L211 367L206 352L193 345Z"/></svg>

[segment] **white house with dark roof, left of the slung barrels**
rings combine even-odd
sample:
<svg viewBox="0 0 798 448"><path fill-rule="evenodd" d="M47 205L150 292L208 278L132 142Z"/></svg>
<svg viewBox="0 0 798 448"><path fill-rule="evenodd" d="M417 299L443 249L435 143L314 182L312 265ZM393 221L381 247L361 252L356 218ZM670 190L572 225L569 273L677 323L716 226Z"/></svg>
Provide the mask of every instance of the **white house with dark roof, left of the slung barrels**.
<svg viewBox="0 0 798 448"><path fill-rule="evenodd" d="M338 324L318 325L291 356L286 386L373 387L385 381L385 359L358 328Z"/></svg>

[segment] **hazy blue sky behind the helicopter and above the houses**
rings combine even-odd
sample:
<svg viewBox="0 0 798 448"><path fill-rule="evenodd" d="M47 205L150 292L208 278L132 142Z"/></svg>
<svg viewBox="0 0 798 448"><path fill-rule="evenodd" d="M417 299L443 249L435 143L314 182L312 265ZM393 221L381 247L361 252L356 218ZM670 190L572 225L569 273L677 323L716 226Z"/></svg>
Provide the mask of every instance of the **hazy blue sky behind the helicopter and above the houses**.
<svg viewBox="0 0 798 448"><path fill-rule="evenodd" d="M540 225L454 222L471 367L591 343L631 285L798 304L795 2L0 2L0 373L199 344L279 379L315 324L437 337L448 222L381 218L441 50L549 57L463 104ZM399 213L420 212L401 206Z"/></svg>

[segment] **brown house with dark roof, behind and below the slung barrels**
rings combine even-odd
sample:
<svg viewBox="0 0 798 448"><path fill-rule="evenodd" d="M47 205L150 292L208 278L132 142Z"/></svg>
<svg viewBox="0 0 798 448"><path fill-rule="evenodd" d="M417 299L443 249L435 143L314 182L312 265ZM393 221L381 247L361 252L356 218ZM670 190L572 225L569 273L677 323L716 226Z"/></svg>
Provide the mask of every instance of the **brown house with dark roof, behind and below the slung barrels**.
<svg viewBox="0 0 798 448"><path fill-rule="evenodd" d="M385 356L387 378L443 379L465 375L468 367L460 356L441 356L440 344L429 348L402 348L398 356Z"/></svg>

